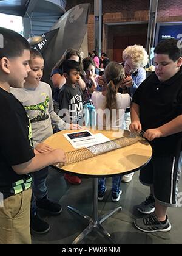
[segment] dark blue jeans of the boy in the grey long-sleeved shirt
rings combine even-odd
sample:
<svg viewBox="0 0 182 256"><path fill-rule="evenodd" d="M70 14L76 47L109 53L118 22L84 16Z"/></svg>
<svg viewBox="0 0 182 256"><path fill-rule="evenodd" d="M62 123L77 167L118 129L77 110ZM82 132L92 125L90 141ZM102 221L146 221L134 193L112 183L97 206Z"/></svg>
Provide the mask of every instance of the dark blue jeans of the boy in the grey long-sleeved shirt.
<svg viewBox="0 0 182 256"><path fill-rule="evenodd" d="M41 200L47 196L46 180L48 176L48 167L41 169L40 171L33 172L33 186L32 186L32 200L31 200L31 214L34 215L37 206L36 201Z"/></svg>

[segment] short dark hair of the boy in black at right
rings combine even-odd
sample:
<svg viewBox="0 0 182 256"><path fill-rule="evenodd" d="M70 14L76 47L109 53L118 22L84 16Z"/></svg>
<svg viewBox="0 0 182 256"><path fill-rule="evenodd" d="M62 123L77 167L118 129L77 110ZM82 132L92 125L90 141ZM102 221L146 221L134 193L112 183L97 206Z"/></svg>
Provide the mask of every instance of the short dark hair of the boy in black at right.
<svg viewBox="0 0 182 256"><path fill-rule="evenodd" d="M182 49L178 48L177 39L160 41L154 49L155 54L167 54L169 59L176 62L182 56Z"/></svg>

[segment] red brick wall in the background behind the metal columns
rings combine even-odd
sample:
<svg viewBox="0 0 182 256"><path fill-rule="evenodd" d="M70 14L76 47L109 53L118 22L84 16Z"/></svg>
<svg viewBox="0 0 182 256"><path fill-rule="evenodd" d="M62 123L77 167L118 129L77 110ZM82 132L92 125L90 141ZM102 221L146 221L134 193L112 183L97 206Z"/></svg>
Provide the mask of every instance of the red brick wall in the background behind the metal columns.
<svg viewBox="0 0 182 256"><path fill-rule="evenodd" d="M89 51L94 48L94 0L67 0L66 9L75 5L90 3L90 15L88 24ZM135 22L149 20L150 0L103 0L103 51L107 50L107 23ZM158 22L181 21L182 0L159 0ZM109 36L109 35L108 35Z"/></svg>

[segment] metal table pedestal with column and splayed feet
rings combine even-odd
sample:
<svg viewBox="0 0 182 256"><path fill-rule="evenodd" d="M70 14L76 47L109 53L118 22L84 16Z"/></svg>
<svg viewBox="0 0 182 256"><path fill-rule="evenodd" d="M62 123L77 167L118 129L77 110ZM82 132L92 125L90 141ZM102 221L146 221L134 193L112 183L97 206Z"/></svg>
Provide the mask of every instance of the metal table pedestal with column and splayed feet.
<svg viewBox="0 0 182 256"><path fill-rule="evenodd" d="M99 233L101 233L103 236L106 236L107 239L109 239L110 243L114 243L112 239L110 238L110 233L108 233L101 224L106 221L110 216L112 216L114 213L118 212L119 210L122 210L122 207L117 207L115 210L111 210L110 212L106 213L105 215L98 218L98 178L93 178L93 218L90 216L79 212L76 208L71 207L70 205L67 206L68 210L71 210L72 212L77 213L78 215L82 216L84 219L87 219L89 221L89 226L86 227L86 229L83 230L73 241L73 244L78 244L81 240L83 240L84 237L89 235L90 232L92 232L94 229L98 230Z"/></svg>

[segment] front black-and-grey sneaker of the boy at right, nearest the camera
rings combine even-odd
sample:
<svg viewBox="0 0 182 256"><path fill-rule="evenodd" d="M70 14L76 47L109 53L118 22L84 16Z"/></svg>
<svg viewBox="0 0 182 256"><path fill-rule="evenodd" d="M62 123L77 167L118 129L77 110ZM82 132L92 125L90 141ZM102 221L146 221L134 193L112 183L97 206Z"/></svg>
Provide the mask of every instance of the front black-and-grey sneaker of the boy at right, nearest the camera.
<svg viewBox="0 0 182 256"><path fill-rule="evenodd" d="M169 232L171 229L168 217L166 216L166 221L163 223L157 219L155 213L151 213L146 218L135 219L134 224L137 229L146 233Z"/></svg>

